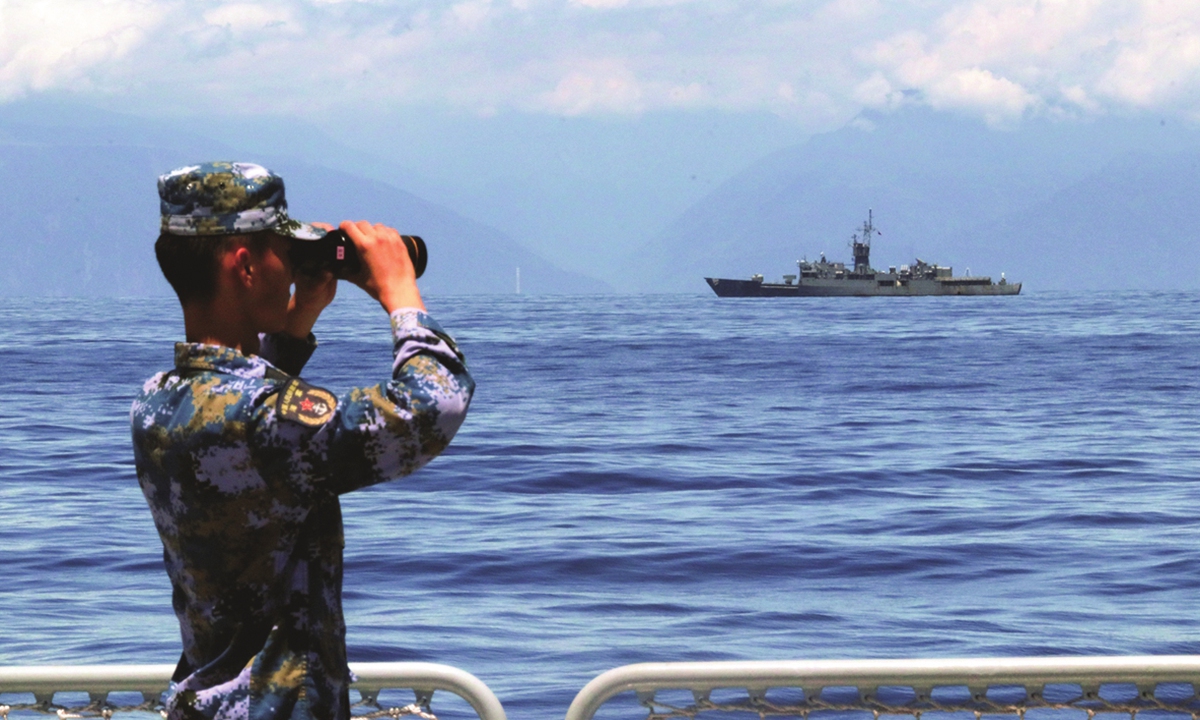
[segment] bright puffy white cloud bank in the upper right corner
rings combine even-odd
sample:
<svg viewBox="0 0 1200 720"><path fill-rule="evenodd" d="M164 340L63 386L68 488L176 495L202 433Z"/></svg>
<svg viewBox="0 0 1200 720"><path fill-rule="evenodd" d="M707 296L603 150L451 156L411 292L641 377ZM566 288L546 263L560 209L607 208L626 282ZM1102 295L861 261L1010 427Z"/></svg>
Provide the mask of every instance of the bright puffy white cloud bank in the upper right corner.
<svg viewBox="0 0 1200 720"><path fill-rule="evenodd" d="M976 0L868 55L931 104L990 120L1031 110L1200 109L1200 6L1156 0Z"/></svg>

